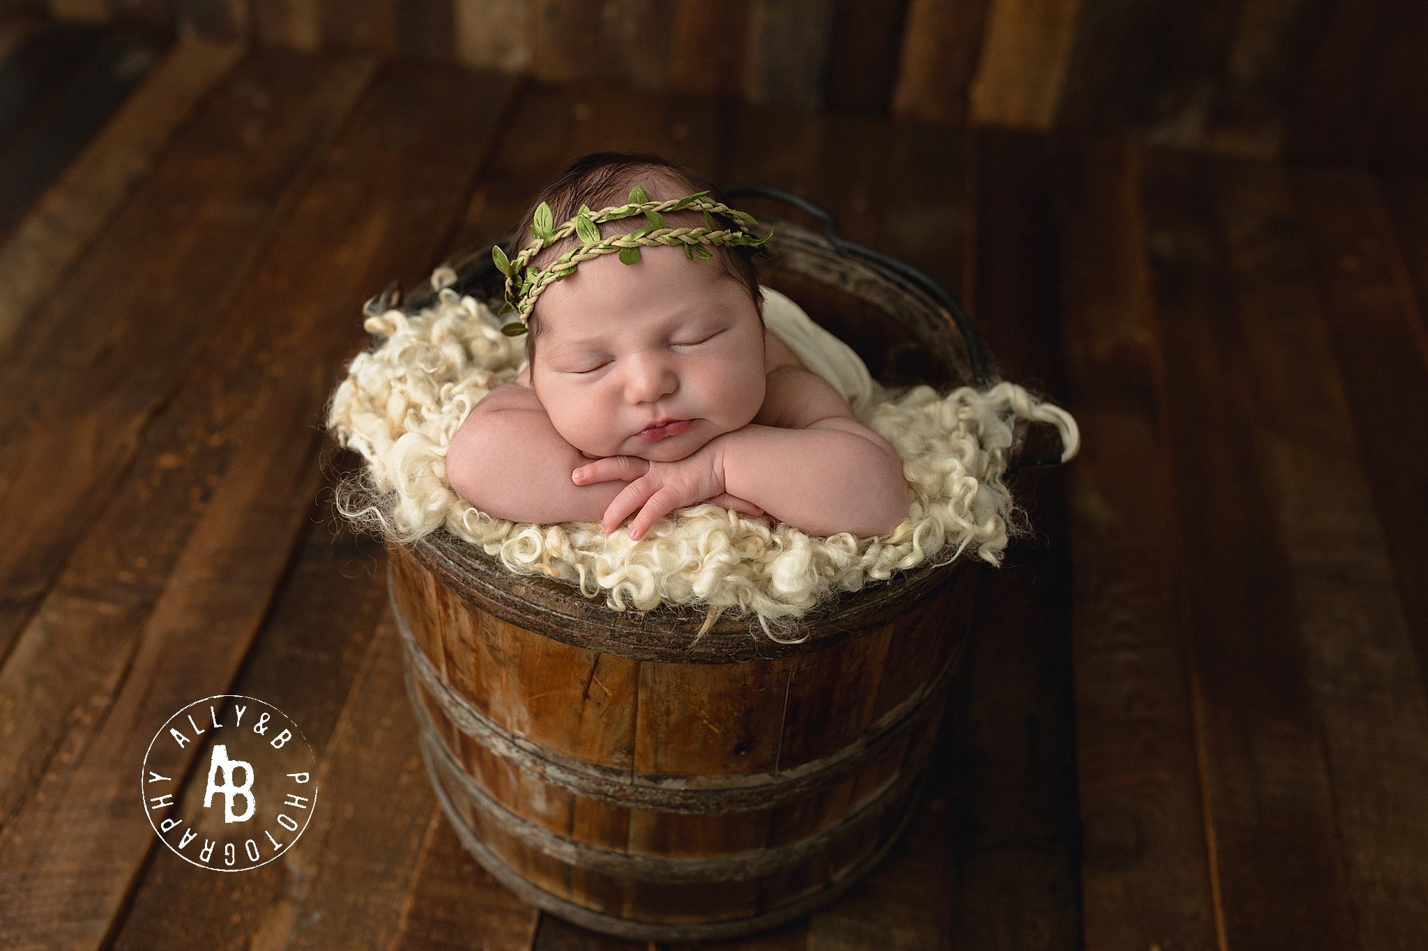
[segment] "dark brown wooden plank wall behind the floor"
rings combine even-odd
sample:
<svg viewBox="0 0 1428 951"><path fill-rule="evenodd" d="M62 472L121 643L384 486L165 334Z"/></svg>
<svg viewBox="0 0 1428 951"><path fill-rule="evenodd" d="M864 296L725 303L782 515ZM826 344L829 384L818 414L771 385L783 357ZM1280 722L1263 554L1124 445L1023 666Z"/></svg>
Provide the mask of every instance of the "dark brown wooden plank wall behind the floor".
<svg viewBox="0 0 1428 951"><path fill-rule="evenodd" d="M6 0L257 46L1422 167L1417 0Z"/></svg>

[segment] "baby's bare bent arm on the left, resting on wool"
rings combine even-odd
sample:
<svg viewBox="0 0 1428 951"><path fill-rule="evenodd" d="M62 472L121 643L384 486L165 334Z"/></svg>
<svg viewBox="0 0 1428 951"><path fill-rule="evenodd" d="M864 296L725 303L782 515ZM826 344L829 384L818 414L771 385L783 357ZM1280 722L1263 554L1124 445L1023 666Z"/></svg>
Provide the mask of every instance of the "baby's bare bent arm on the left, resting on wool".
<svg viewBox="0 0 1428 951"><path fill-rule="evenodd" d="M555 432L536 395L506 384L486 395L447 451L447 479L463 499L511 522L598 522L625 482L574 485L588 462Z"/></svg>

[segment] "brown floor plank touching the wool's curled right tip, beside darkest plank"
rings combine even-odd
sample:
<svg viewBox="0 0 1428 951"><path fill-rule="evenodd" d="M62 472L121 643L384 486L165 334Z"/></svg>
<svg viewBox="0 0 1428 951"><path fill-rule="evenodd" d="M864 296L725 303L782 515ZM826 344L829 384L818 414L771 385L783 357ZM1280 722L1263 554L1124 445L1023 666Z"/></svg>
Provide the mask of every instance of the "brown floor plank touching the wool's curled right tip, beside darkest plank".
<svg viewBox="0 0 1428 951"><path fill-rule="evenodd" d="M1057 237L1088 948L1215 948L1140 150L1067 150Z"/></svg>

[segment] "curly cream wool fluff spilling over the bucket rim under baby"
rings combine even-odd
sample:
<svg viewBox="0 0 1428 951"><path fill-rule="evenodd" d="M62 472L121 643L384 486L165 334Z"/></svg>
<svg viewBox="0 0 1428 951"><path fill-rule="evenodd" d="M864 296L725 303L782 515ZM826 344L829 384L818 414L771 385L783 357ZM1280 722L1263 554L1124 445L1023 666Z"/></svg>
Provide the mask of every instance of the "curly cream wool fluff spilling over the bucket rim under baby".
<svg viewBox="0 0 1428 951"><path fill-rule="evenodd" d="M1001 480L1014 418L1055 425L1064 459L1078 443L1065 411L1015 384L945 395L875 386L878 399L855 413L902 456L911 495L907 520L890 535L810 536L713 503L673 512L638 542L627 528L607 536L598 522L507 522L451 489L446 452L471 408L520 374L523 344L497 329L484 304L451 289L418 314L390 309L364 327L384 341L351 361L327 415L337 441L367 461L338 488L344 516L400 543L444 526L516 573L563 577L585 597L604 592L615 610L704 605L703 630L734 609L785 640L798 617L841 590L964 552L998 565L1021 525Z"/></svg>

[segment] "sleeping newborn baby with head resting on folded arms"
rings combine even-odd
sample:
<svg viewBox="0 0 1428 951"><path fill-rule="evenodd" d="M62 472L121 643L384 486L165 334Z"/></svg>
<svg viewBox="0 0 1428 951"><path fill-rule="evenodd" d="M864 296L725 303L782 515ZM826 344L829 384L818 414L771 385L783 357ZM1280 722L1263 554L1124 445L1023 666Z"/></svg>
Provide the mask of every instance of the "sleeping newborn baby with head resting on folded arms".
<svg viewBox="0 0 1428 951"><path fill-rule="evenodd" d="M536 200L514 251L550 232L543 202L560 225L585 207L624 204L637 185L648 201L707 191L723 202L708 181L661 158L587 155ZM585 227L584 240L648 231L658 217L645 221L605 221L598 235ZM713 221L691 210L663 215L667 228ZM581 241L557 240L531 264L560 264ZM644 245L580 261L538 291L526 314L526 368L463 421L447 453L451 488L514 522L598 520L608 533L633 516L631 539L704 502L810 535L894 530L908 515L901 458L765 329L753 250L705 247L705 259Z"/></svg>

